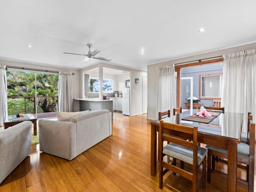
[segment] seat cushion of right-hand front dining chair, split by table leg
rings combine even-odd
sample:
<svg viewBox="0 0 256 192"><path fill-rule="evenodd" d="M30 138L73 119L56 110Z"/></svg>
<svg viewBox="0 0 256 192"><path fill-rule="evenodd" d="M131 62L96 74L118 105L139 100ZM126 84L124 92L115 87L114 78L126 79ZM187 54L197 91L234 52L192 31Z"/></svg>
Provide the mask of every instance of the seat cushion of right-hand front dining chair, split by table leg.
<svg viewBox="0 0 256 192"><path fill-rule="evenodd" d="M220 153L228 154L228 150L226 150L226 149L221 149L221 148L218 148L218 147L212 147L211 145L206 145L205 147L207 149L218 151ZM249 150L250 150L250 146L247 145L246 143L238 143L237 144L237 157L249 160L250 159Z"/></svg>

